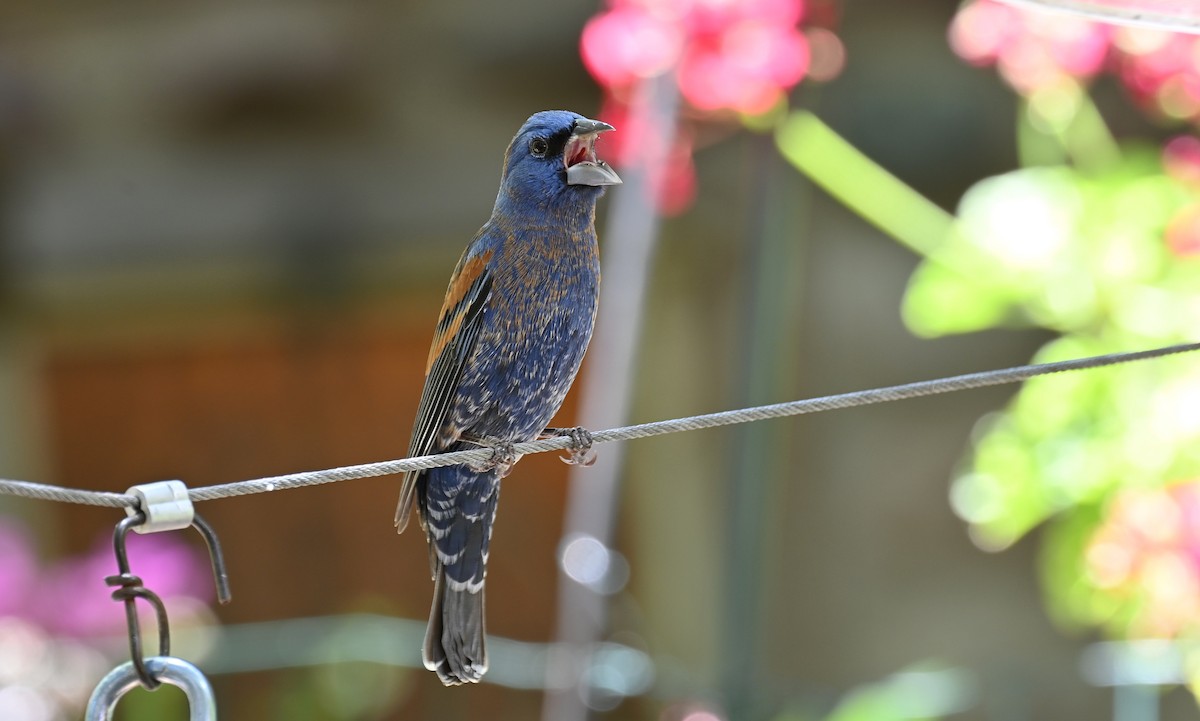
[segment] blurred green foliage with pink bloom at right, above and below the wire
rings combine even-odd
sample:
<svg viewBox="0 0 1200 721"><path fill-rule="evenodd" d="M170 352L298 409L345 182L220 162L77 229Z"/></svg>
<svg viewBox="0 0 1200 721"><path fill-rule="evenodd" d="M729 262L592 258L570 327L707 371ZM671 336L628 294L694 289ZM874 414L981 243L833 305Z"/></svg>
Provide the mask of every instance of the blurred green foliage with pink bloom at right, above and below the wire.
<svg viewBox="0 0 1200 721"><path fill-rule="evenodd" d="M1070 127L1054 134L1080 154L1086 142L1062 138ZM956 232L913 274L910 328L1055 331L1038 362L1193 341L1200 254L1189 173L1138 145L1085 164L1024 168L967 191ZM952 501L985 548L1050 522L1042 573L1060 621L1176 637L1200 623L1189 543L1200 518L1183 505L1200 477L1198 441L1193 359L1038 378L980 423ZM1127 511L1139 504L1154 504L1148 525Z"/></svg>

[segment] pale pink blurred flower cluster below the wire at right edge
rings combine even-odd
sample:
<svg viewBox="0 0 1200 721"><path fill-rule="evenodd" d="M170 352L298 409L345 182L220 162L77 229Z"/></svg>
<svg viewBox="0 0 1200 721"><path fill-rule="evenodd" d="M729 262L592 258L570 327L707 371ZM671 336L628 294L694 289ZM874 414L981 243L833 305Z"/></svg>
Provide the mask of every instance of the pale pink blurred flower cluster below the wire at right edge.
<svg viewBox="0 0 1200 721"><path fill-rule="evenodd" d="M1133 612L1134 637L1200 627L1200 481L1126 491L1086 551L1092 583Z"/></svg>

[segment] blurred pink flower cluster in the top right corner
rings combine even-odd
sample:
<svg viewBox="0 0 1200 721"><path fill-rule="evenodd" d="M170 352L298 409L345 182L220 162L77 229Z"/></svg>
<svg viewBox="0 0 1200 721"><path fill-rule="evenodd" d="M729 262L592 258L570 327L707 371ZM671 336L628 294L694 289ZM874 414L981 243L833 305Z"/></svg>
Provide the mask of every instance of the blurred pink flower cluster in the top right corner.
<svg viewBox="0 0 1200 721"><path fill-rule="evenodd" d="M1145 109L1200 122L1200 37L974 0L949 29L967 62L996 66L1022 95L1063 80L1116 76Z"/></svg>

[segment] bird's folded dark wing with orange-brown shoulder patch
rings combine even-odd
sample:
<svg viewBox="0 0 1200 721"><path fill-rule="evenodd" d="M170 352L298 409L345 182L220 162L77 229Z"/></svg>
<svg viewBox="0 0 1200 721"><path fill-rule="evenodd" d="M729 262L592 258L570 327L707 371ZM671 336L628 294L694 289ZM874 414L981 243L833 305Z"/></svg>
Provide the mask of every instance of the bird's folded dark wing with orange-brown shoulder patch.
<svg viewBox="0 0 1200 721"><path fill-rule="evenodd" d="M433 451L438 435L445 426L450 401L458 390L463 367L479 340L482 311L492 289L488 262L493 251L472 253L474 245L472 244L458 260L458 266L450 276L446 299L442 304L442 314L433 331L433 346L430 348L430 359L425 368L425 389L416 407L413 439L408 445L410 457L425 456ZM408 516L416 495L416 481L421 473L404 474L400 504L396 506L397 533L402 533L408 525ZM424 524L424 518L421 522Z"/></svg>

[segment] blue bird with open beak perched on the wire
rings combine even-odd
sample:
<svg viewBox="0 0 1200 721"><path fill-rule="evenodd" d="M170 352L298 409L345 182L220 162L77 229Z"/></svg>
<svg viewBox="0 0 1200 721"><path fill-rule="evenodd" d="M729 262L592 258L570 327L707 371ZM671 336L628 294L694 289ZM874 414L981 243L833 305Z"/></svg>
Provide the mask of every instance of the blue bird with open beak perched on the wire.
<svg viewBox="0 0 1200 721"><path fill-rule="evenodd" d="M484 581L500 479L520 459L512 445L570 434L578 450L587 437L547 423L595 324L596 200L620 184L595 143L612 130L568 110L524 121L434 328L409 456L493 449L484 463L404 474L396 507L397 533L415 504L428 541L433 603L421 659L446 686L478 683L487 671Z"/></svg>

